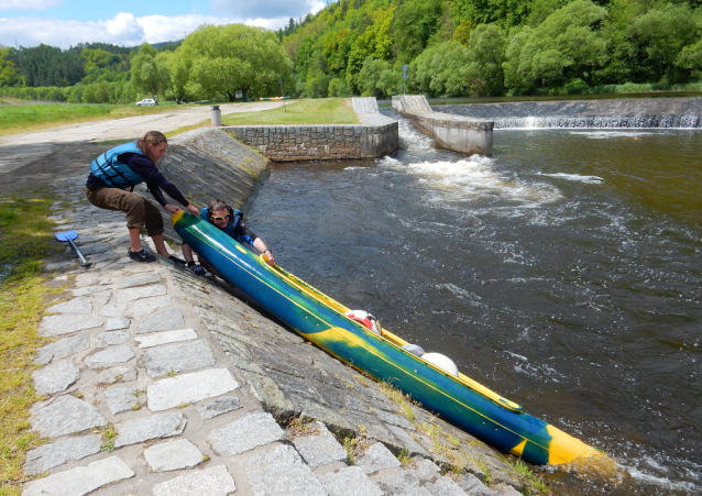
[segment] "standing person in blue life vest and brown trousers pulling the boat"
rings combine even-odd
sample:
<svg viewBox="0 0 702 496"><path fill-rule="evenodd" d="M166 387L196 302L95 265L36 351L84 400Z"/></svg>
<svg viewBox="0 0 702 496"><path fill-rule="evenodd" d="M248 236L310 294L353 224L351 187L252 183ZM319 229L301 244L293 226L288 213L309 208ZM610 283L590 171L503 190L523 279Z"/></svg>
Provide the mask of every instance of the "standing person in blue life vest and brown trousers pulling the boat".
<svg viewBox="0 0 702 496"><path fill-rule="evenodd" d="M193 214L199 212L197 207L186 200L178 188L156 168L156 162L165 155L168 143L163 133L149 131L142 140L108 150L90 163L90 174L88 174L85 189L86 197L96 207L127 213L127 229L129 229L130 239L127 255L136 262L154 262L156 260L154 255L146 253L141 246L141 228L145 225L160 255L175 263L185 264L184 260L168 253L163 239L161 212L146 198L132 192L134 186L146 183L153 197L168 213L176 213L180 208L168 203L162 189L183 205L188 212Z"/></svg>

